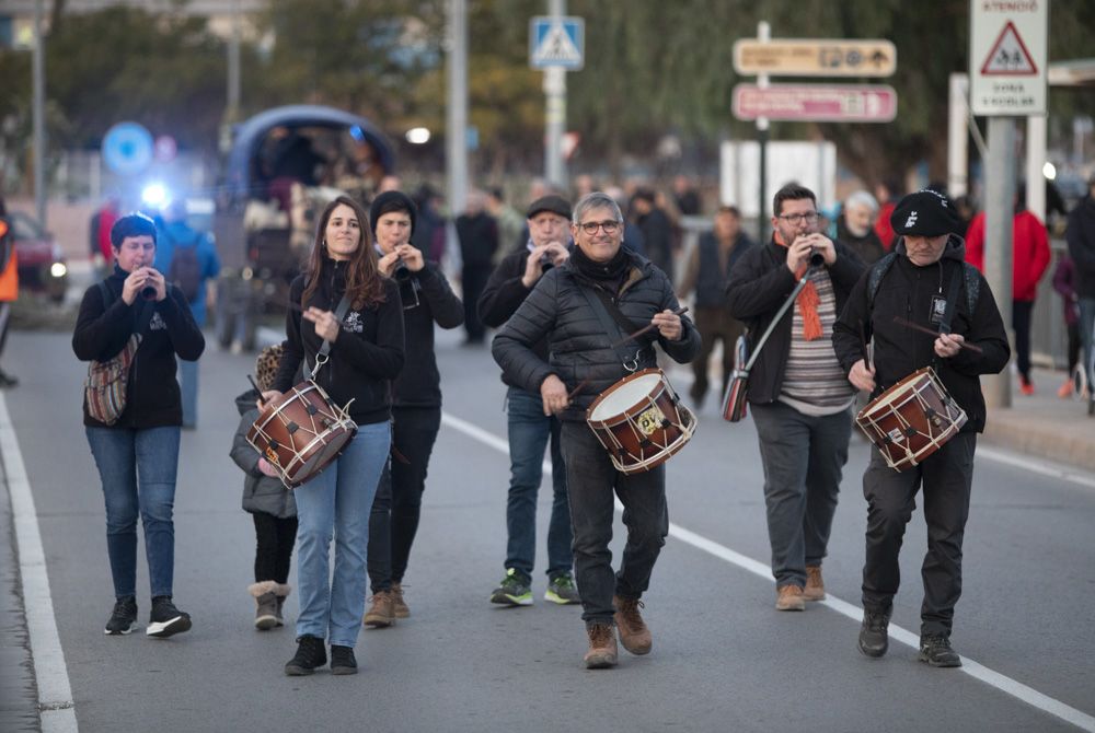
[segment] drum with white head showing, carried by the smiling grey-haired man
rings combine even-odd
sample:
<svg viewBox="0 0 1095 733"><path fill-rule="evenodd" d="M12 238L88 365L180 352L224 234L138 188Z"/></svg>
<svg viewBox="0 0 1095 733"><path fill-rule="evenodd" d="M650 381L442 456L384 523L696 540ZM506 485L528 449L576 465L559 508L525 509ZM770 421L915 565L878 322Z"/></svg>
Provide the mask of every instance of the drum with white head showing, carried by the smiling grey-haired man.
<svg viewBox="0 0 1095 733"><path fill-rule="evenodd" d="M660 369L635 372L602 392L586 410L586 422L623 474L661 465L695 430L695 416Z"/></svg>

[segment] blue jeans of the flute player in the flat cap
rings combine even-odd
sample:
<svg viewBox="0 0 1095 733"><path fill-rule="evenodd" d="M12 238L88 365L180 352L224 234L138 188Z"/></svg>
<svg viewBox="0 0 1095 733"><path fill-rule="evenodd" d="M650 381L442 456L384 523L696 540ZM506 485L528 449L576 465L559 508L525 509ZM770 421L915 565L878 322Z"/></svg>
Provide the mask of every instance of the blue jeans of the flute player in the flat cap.
<svg viewBox="0 0 1095 733"><path fill-rule="evenodd" d="M544 449L551 441L554 497L548 523L548 575L570 572L570 504L566 497L566 468L560 446L560 422L544 415L540 395L510 387L506 395L509 416L509 497L506 500L506 568L529 581L537 555L537 493L543 479Z"/></svg>

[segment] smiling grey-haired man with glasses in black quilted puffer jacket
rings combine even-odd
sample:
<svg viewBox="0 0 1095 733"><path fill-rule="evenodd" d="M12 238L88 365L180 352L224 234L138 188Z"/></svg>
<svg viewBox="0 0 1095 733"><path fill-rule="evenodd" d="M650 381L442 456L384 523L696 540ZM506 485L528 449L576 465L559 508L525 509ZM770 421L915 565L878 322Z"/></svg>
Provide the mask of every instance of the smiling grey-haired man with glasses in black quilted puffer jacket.
<svg viewBox="0 0 1095 733"><path fill-rule="evenodd" d="M611 197L599 191L583 197L574 208L570 232L577 246L569 259L540 278L498 331L493 352L507 375L540 393L544 415L558 415L563 421L575 570L589 637L585 663L599 668L616 663L613 621L624 649L633 654L650 651L639 596L669 532L669 514L665 466L632 474L616 470L586 422L586 409L629 372L655 366L655 341L676 361L688 363L700 350L700 335L688 318L673 313L677 296L665 272L620 246L623 216ZM613 309L619 311L615 316ZM610 328L615 317L634 325L627 333L648 324L655 328L613 348L618 335ZM546 362L533 350L543 338L549 344ZM609 550L613 490L624 505L627 527L615 574Z"/></svg>

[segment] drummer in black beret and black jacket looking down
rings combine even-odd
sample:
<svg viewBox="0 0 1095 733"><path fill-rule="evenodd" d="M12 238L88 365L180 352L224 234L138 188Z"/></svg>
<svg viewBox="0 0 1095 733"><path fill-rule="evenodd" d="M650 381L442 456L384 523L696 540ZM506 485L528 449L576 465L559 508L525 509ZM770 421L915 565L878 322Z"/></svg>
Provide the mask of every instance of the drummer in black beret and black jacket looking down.
<svg viewBox="0 0 1095 733"><path fill-rule="evenodd" d="M964 265L965 243L952 233L961 223L946 197L931 190L910 194L890 221L902 238L852 290L833 327L837 356L849 381L872 396L918 369L933 366L968 421L938 451L901 473L872 449L863 475L867 548L858 647L867 656L886 653L899 581L898 551L923 487L927 555L921 570L920 660L932 666L960 666L949 639L961 594L973 451L977 433L984 429L978 375L995 374L1007 364L1007 336L984 278ZM921 329L938 336L925 336ZM872 338L873 359L866 353Z"/></svg>

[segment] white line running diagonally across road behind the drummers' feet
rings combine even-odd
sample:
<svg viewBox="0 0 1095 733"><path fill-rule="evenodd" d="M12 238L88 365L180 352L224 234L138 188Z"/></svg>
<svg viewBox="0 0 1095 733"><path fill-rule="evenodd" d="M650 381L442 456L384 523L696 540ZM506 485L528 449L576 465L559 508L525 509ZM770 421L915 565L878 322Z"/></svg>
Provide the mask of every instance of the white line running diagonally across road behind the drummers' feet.
<svg viewBox="0 0 1095 733"><path fill-rule="evenodd" d="M441 423L452 428L453 430L462 432L469 438L476 440L484 445L498 451L499 453L504 453L507 456L509 455L508 441L480 428L476 424L462 420L445 411L441 412ZM981 449L978 447L978 453L980 452ZM545 473L550 472L551 461L544 461L543 468ZM1060 477L1058 474L1052 475ZM615 509L618 512L623 511L623 505L620 503L619 499L615 499ZM759 560L741 555L740 552L736 552L729 547L721 545L713 539L708 539L703 535L696 534L691 530L685 530L679 524L675 524L672 522L669 523L669 536L673 539L685 543L687 545L691 545L699 550L707 552L713 557L725 560L726 562L741 568L742 570L751 572L770 583L775 582L775 579L772 578L772 570L769 566L760 562ZM852 619L856 624L863 620L863 608L853 603L842 601L833 596L831 593L828 594L828 597L825 601L819 603L835 610L838 614ZM897 626L896 624L890 624L889 626L889 638L907 647L911 647L912 649L920 648L920 637L908 629ZM1012 679L1006 675L990 670L968 656L963 656L961 663L963 666L960 670L975 679L978 679L990 687L994 687L1002 693L1011 695L1017 700L1026 702L1031 707L1038 708L1039 710L1048 712L1051 715L1056 715L1057 718L1060 718L1061 720L1071 723L1081 730L1087 731L1088 733L1095 733L1095 717L1088 715L1081 710L1076 710L1075 708L1072 708L1056 698L1051 698L1048 695L1044 695L1033 687L1024 685L1017 679Z"/></svg>

